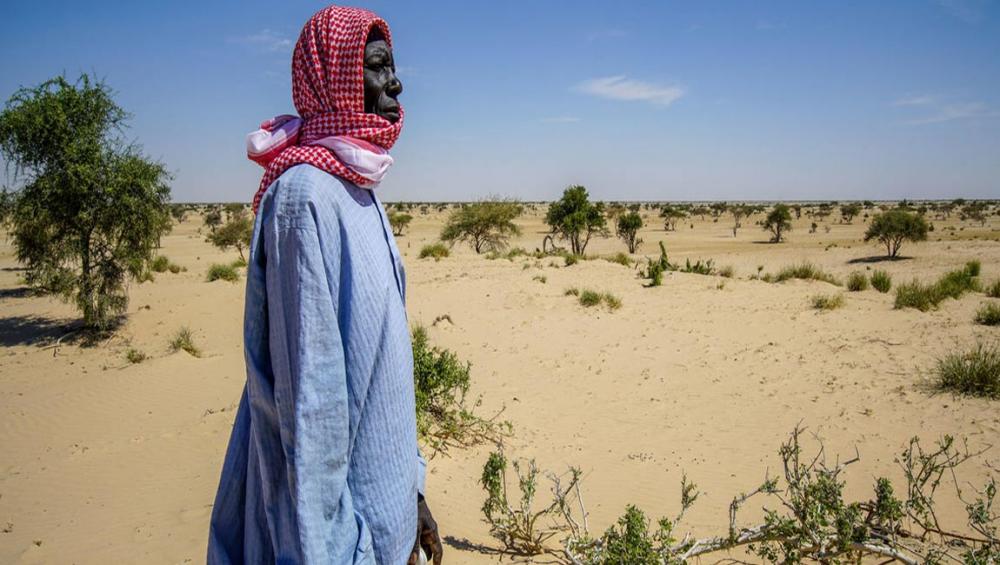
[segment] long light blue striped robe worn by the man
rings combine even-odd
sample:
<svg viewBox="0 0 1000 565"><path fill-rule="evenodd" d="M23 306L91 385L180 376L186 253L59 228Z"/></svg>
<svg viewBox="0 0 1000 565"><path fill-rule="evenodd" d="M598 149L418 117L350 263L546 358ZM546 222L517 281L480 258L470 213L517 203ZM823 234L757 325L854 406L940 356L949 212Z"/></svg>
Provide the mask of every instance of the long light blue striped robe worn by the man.
<svg viewBox="0 0 1000 565"><path fill-rule="evenodd" d="M310 165L260 203L247 267L247 384L210 564L397 565L417 531L403 263L374 192Z"/></svg>

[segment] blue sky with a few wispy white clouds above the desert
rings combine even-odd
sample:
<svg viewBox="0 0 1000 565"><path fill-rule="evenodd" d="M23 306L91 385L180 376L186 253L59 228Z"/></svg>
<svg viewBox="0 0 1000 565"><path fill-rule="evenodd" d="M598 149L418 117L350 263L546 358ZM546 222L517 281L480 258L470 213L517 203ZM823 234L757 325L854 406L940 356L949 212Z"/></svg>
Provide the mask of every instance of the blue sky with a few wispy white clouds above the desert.
<svg viewBox="0 0 1000 565"><path fill-rule="evenodd" d="M0 97L103 77L175 200L246 201L244 136L293 110L324 5L7 3ZM385 200L1000 196L995 0L355 5L404 85Z"/></svg>

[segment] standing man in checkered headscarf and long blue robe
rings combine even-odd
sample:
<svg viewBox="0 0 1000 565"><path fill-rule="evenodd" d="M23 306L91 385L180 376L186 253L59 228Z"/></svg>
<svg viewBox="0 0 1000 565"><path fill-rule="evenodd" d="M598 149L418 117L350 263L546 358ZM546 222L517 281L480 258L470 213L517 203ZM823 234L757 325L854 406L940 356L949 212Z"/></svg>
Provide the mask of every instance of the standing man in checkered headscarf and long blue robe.
<svg viewBox="0 0 1000 565"><path fill-rule="evenodd" d="M388 25L331 6L292 56L301 116L248 138L265 166L247 267L247 384L208 562L441 562L423 499L399 251L374 189L403 124Z"/></svg>

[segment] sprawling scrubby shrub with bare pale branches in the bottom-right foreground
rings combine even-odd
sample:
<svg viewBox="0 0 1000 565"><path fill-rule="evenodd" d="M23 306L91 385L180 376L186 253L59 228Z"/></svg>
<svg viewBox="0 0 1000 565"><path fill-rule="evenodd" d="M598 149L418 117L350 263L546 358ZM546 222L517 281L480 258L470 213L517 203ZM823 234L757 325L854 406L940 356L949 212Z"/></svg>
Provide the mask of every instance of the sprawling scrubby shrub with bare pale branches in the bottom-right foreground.
<svg viewBox="0 0 1000 565"><path fill-rule="evenodd" d="M726 526L711 537L677 533L700 495L687 476L681 479L676 517L661 518L654 529L642 511L629 505L617 524L593 537L578 469L571 467L561 476L549 474L552 501L535 510L540 472L534 462L519 463L515 469L521 504L514 507L507 492L507 460L502 452L493 453L483 468L481 484L487 495L483 513L491 533L503 543L504 553L560 555L546 542L563 533L561 555L574 565L682 565L699 556L739 547L766 563L859 563L888 558L916 565L941 563L940 558L948 555L959 563L985 565L1000 558L995 480L988 480L981 490L971 488L974 500L965 498L957 488L953 491L966 508L971 535L951 533L954 527L943 524L936 512L938 487L951 479L958 487L955 469L982 451L971 452L951 436L944 436L931 448L914 437L896 458L903 488L878 477L870 499L851 502L845 496L848 477L844 470L857 463L860 455L831 463L822 445L815 455L806 454L803 434L804 430L796 427L778 451L783 475L765 476L752 490L734 496ZM739 511L755 497L769 497L774 505L764 507L760 523L740 524Z"/></svg>

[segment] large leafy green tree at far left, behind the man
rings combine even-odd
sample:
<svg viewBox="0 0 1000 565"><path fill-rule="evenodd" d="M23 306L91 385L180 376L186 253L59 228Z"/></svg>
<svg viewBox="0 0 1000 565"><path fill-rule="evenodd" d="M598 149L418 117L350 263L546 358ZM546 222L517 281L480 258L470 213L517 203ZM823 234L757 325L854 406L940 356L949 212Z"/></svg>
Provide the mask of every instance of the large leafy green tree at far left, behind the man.
<svg viewBox="0 0 1000 565"><path fill-rule="evenodd" d="M26 281L73 300L88 329L113 325L170 228L170 175L122 139L129 115L82 75L21 88L0 113L18 189L8 217Z"/></svg>

